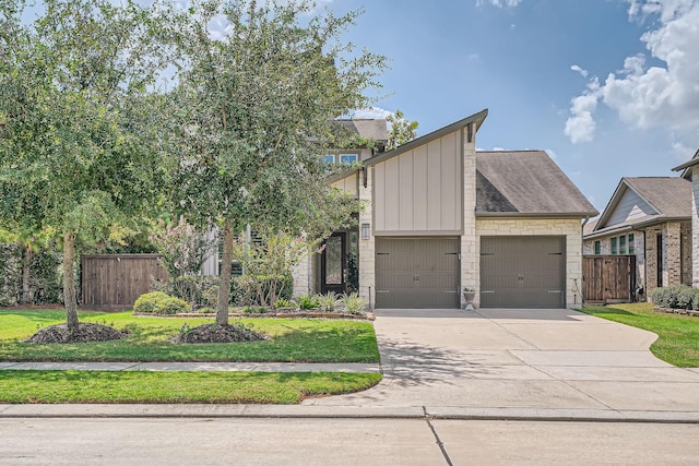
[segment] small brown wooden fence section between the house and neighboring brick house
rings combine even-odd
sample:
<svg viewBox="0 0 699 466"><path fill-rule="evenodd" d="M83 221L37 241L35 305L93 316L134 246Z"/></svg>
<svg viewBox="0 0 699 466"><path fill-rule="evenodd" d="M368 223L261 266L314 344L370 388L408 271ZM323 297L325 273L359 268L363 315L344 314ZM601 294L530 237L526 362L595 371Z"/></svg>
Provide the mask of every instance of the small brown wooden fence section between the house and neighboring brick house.
<svg viewBox="0 0 699 466"><path fill-rule="evenodd" d="M636 255L584 255L584 299L589 303L630 302L636 292Z"/></svg>

